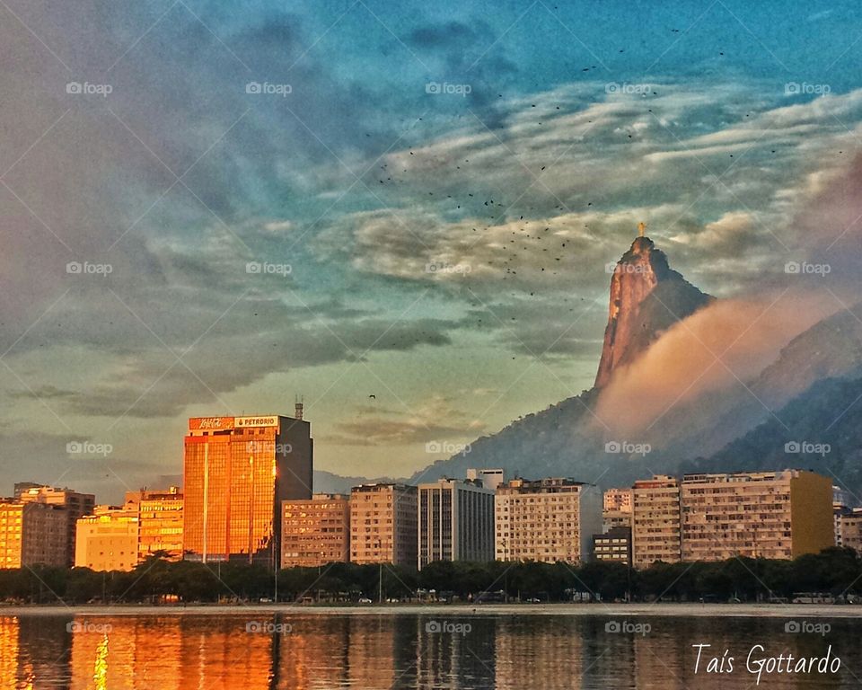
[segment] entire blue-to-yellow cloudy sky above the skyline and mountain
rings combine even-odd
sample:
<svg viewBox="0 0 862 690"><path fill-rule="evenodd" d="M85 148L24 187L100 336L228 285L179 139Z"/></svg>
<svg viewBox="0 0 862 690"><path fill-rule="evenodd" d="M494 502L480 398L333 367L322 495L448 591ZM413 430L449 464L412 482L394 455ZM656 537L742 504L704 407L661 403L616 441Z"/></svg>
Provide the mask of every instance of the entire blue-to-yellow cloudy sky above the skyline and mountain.
<svg viewBox="0 0 862 690"><path fill-rule="evenodd" d="M412 473L592 385L639 221L787 341L858 294L860 45L851 2L0 0L0 494L116 501L297 398L318 469Z"/></svg>

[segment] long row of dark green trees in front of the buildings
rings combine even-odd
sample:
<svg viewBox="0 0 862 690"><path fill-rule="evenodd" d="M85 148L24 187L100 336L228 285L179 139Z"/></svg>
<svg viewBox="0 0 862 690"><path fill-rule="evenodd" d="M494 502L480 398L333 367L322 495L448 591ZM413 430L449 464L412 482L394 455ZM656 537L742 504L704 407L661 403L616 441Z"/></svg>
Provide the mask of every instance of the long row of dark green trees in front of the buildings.
<svg viewBox="0 0 862 690"><path fill-rule="evenodd" d="M757 601L795 592L862 593L862 560L850 549L832 548L795 561L734 558L724 562L662 563L633 571L620 563L435 562L417 572L392 565L330 563L290 568L276 575L263 566L238 563L168 562L154 557L130 572L86 568L23 568L0 571L0 600L69 604L176 600L401 601L458 597L570 601L579 594L603 600ZM417 594L419 592L419 594ZM494 592L495 597L481 593Z"/></svg>

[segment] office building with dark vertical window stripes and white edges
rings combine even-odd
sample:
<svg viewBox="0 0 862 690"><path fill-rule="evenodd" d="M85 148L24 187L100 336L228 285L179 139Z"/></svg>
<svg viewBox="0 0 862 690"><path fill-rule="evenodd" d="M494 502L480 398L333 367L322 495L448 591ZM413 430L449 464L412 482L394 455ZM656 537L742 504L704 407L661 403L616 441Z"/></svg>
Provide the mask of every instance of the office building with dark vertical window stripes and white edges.
<svg viewBox="0 0 862 690"><path fill-rule="evenodd" d="M494 560L494 491L479 477L418 487L418 568L434 561Z"/></svg>

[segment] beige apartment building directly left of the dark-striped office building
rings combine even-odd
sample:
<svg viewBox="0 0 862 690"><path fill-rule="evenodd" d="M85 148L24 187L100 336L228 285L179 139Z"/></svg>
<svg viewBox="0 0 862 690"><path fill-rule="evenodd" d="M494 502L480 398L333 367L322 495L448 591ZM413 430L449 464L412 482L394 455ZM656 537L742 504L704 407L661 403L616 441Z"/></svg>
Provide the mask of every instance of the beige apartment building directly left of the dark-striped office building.
<svg viewBox="0 0 862 690"><path fill-rule="evenodd" d="M350 561L416 568L418 492L408 484L362 484L350 491Z"/></svg>

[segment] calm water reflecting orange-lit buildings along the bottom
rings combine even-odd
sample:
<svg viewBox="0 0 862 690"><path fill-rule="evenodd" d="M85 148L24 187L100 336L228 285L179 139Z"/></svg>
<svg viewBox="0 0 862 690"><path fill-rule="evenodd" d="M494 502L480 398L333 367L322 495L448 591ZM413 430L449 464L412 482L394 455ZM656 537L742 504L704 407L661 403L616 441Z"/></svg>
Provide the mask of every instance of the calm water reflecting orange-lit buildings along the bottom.
<svg viewBox="0 0 862 690"><path fill-rule="evenodd" d="M836 674L764 671L761 687L845 688L862 682L862 624L805 619L672 615L559 615L548 609L471 614L271 612L0 615L0 687L84 690L330 690L334 688L754 688L745 668L792 652L822 657ZM720 607L717 608L720 611ZM814 629L827 622L830 630ZM616 625L615 625L616 624ZM639 626L639 627L638 627ZM648 627L648 629L647 629ZM621 628L620 632L614 632ZM825 632L825 634L823 634ZM711 644L695 674L697 650ZM707 652L734 657L707 673ZM727 669L727 666L725 665ZM755 666L756 670L756 666Z"/></svg>

